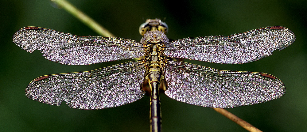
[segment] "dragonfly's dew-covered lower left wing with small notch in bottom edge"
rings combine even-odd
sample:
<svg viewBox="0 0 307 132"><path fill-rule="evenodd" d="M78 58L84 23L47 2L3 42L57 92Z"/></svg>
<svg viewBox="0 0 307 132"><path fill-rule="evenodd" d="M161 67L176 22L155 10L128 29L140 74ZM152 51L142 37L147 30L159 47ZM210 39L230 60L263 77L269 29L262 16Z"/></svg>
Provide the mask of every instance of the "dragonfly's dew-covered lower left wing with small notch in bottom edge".
<svg viewBox="0 0 307 132"><path fill-rule="evenodd" d="M46 104L78 109L103 109L134 102L146 68L140 61L126 62L97 70L38 77L25 89L26 96Z"/></svg>

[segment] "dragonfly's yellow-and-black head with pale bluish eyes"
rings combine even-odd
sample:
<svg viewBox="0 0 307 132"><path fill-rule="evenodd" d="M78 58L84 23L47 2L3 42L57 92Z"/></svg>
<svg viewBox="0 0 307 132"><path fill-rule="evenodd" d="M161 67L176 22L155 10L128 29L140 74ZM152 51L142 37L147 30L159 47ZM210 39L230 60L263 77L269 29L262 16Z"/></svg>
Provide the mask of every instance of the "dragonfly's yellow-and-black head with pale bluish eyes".
<svg viewBox="0 0 307 132"><path fill-rule="evenodd" d="M147 19L145 23L141 24L138 32L144 36L147 31L162 31L164 33L168 32L168 26L165 22L162 22L160 19Z"/></svg>

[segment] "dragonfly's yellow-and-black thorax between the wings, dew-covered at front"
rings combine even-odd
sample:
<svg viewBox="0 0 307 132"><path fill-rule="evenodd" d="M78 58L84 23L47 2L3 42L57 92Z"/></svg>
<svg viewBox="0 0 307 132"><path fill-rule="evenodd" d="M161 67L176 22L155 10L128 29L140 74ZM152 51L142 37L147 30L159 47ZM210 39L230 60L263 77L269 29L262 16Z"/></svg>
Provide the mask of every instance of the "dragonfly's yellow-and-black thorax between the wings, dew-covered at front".
<svg viewBox="0 0 307 132"><path fill-rule="evenodd" d="M167 56L163 53L165 43L168 42L166 35L161 31L148 31L143 36L141 43L145 47L146 53L143 55L143 64L146 66L145 79L142 87L147 95L153 91L153 89L159 89L160 82L164 80L163 67L167 62ZM165 84L161 85L161 91L165 91Z"/></svg>

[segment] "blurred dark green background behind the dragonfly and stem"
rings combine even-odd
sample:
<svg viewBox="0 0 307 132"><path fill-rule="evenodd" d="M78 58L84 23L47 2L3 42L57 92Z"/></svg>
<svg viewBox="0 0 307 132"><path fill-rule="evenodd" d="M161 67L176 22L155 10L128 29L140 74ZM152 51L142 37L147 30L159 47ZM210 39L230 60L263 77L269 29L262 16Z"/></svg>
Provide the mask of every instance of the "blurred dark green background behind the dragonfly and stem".
<svg viewBox="0 0 307 132"><path fill-rule="evenodd" d="M147 18L161 18L169 38L231 35L266 26L284 26L296 41L261 60L238 65L189 61L221 70L264 72L278 77L287 92L270 102L228 109L263 131L306 131L307 126L307 3L301 1L120 1L70 0L115 36L139 41L138 27ZM12 42L25 26L51 28L82 36L97 36L86 25L50 1L1 1L0 131L149 131L149 97L103 110L73 109L39 103L25 96L36 77L93 70L124 61L67 66L30 54ZM211 108L198 107L161 95L163 131L246 131Z"/></svg>

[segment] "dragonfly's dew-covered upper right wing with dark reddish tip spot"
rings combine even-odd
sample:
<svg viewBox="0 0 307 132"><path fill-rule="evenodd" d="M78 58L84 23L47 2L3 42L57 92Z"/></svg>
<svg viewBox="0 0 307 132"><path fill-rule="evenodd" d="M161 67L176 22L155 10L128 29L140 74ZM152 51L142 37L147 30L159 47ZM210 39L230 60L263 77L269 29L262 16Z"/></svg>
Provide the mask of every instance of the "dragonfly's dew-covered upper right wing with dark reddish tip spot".
<svg viewBox="0 0 307 132"><path fill-rule="evenodd" d="M282 50L295 40L288 28L259 28L231 36L185 38L167 43L165 55L215 63L239 64L256 61Z"/></svg>

